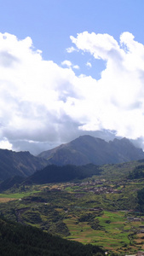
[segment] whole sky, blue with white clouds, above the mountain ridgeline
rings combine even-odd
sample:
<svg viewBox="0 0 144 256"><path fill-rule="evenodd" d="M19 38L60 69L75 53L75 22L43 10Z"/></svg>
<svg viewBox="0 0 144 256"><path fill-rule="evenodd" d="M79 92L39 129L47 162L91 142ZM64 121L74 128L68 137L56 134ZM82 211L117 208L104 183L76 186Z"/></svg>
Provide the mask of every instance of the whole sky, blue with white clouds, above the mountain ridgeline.
<svg viewBox="0 0 144 256"><path fill-rule="evenodd" d="M84 134L144 149L144 1L0 1L0 148Z"/></svg>

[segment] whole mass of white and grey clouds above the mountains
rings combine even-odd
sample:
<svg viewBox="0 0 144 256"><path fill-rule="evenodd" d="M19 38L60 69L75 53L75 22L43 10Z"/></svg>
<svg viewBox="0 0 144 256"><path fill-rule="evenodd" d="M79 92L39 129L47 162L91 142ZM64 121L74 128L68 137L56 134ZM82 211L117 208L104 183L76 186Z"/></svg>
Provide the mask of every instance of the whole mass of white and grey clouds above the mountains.
<svg viewBox="0 0 144 256"><path fill-rule="evenodd" d="M130 32L119 42L94 32L71 40L71 54L106 62L101 79L43 60L31 38L0 33L0 148L37 154L100 130L144 141L144 45Z"/></svg>

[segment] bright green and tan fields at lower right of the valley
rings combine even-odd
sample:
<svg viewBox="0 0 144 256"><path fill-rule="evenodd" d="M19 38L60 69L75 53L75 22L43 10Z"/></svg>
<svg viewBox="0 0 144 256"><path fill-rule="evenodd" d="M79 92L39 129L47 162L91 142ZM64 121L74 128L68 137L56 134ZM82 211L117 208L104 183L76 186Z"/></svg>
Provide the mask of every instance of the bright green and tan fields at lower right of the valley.
<svg viewBox="0 0 144 256"><path fill-rule="evenodd" d="M92 243L107 248L114 252L124 252L129 248L135 252L137 245L132 246L130 235L141 223L129 223L125 212L106 212L101 217L96 217L104 230L93 230L87 223L78 223L76 218L65 219L65 223L71 232L68 239L81 241L84 244Z"/></svg>

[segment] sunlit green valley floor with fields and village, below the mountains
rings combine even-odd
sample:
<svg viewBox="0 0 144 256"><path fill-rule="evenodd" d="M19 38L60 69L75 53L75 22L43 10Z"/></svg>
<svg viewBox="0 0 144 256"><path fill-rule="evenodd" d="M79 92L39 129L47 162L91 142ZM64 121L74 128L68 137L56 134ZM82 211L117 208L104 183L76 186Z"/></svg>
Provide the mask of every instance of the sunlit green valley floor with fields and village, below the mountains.
<svg viewBox="0 0 144 256"><path fill-rule="evenodd" d="M0 201L6 199L1 215L108 252L135 253L144 249L144 213L138 199L144 178L129 177L137 169L144 172L143 164L100 166L95 175L65 183L55 177L53 183L15 184L0 194Z"/></svg>

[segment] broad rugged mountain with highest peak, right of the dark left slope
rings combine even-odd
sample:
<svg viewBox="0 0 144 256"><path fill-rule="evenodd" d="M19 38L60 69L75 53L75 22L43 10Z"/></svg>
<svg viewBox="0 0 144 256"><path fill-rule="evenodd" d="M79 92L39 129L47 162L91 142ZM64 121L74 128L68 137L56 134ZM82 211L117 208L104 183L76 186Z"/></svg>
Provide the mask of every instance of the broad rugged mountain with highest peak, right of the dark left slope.
<svg viewBox="0 0 144 256"><path fill-rule="evenodd" d="M141 148L135 148L127 138L106 142L85 135L37 156L49 160L50 164L82 166L89 163L104 165L141 160L144 159L144 152Z"/></svg>

